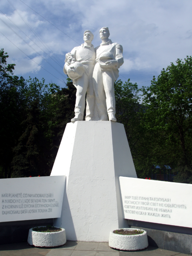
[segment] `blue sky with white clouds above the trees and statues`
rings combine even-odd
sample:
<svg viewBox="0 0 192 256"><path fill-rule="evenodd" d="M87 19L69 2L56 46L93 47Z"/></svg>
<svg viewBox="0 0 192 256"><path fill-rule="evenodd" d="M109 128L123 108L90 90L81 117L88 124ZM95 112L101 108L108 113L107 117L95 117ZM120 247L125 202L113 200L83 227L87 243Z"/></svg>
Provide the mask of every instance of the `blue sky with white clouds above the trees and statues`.
<svg viewBox="0 0 192 256"><path fill-rule="evenodd" d="M130 78L139 87L149 86L153 76L177 58L192 55L191 0L22 1L1 0L0 48L8 52L8 62L16 64L14 74L25 79L44 77L46 83L64 87L65 54L83 43L87 29L97 47L103 26L108 26L110 39L123 46L119 79Z"/></svg>

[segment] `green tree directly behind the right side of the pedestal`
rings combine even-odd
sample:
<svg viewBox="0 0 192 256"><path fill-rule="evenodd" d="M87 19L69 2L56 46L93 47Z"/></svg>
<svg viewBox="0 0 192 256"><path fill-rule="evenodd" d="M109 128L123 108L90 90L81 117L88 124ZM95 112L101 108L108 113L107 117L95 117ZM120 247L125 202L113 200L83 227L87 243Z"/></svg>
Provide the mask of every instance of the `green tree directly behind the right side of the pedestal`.
<svg viewBox="0 0 192 256"><path fill-rule="evenodd" d="M140 178L151 175L150 147L146 143L151 141L150 134L141 124L145 107L140 104L140 89L137 83L130 79L124 84L121 80L115 82L116 119L125 127L129 147L134 160L137 176Z"/></svg>

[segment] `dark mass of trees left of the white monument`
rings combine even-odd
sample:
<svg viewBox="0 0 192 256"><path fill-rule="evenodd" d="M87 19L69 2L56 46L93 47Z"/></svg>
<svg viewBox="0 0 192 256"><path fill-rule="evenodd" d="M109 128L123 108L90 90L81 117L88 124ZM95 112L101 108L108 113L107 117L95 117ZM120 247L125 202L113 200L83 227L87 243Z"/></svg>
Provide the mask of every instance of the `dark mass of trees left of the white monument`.
<svg viewBox="0 0 192 256"><path fill-rule="evenodd" d="M60 90L37 78L13 76L0 51L0 178L49 175L65 125L74 110L75 87Z"/></svg>

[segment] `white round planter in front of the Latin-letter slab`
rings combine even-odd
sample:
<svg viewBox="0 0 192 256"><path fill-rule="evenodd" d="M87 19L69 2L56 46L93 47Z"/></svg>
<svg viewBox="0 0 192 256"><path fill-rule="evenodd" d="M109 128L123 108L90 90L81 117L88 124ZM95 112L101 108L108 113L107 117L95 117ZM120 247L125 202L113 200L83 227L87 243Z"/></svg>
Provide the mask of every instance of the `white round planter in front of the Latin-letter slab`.
<svg viewBox="0 0 192 256"><path fill-rule="evenodd" d="M35 247L57 247L66 243L65 229L58 232L37 232L30 228L27 239L28 244Z"/></svg>

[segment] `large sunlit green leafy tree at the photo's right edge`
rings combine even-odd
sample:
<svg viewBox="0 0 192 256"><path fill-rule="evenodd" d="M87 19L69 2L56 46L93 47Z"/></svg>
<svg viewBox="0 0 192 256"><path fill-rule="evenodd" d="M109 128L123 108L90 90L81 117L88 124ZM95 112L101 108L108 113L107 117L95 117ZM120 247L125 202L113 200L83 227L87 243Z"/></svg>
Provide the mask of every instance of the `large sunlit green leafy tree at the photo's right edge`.
<svg viewBox="0 0 192 256"><path fill-rule="evenodd" d="M151 159L174 167L175 181L192 183L192 58L177 59L142 91L143 126L153 137Z"/></svg>

